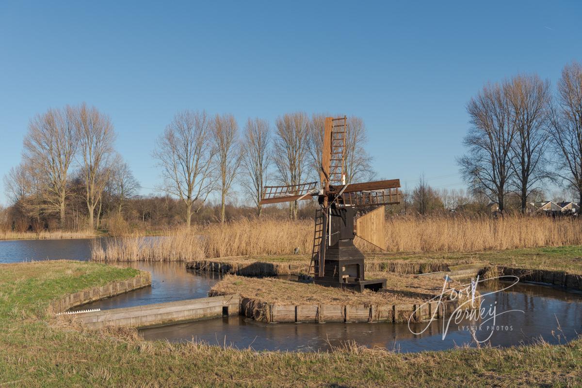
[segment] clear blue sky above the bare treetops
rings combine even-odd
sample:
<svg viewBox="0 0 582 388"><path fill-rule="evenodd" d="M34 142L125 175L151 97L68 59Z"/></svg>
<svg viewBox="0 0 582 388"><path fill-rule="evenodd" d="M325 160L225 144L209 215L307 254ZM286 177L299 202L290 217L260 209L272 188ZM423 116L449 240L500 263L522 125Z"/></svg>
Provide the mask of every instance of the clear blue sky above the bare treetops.
<svg viewBox="0 0 582 388"><path fill-rule="evenodd" d="M467 100L487 81L582 60L582 2L0 0L0 175L30 117L83 101L111 116L145 188L184 108L364 118L382 178L463 187ZM143 193L151 192L143 189ZM6 197L0 193L0 203Z"/></svg>

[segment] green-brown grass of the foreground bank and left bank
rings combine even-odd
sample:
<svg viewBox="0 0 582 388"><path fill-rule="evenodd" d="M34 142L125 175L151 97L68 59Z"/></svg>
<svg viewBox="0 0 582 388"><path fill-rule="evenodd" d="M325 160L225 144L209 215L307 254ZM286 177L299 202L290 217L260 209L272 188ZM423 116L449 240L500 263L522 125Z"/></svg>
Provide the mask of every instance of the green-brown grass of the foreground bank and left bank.
<svg viewBox="0 0 582 388"><path fill-rule="evenodd" d="M394 354L347 345L329 353L145 342L135 330L90 332L42 311L63 293L127 278L97 263L0 266L1 387L577 387L582 340L509 349Z"/></svg>

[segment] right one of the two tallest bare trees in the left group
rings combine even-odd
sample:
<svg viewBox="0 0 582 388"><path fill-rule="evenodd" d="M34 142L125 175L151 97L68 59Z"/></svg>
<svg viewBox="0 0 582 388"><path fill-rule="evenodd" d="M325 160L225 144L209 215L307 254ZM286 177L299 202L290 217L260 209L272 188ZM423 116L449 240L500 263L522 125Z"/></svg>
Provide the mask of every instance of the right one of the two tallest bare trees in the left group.
<svg viewBox="0 0 582 388"><path fill-rule="evenodd" d="M98 227L94 223L95 207L101 200L111 173L115 131L109 116L94 106L88 107L86 103L76 109L76 127L80 143L81 176L85 189L88 226L93 229L95 226Z"/></svg>

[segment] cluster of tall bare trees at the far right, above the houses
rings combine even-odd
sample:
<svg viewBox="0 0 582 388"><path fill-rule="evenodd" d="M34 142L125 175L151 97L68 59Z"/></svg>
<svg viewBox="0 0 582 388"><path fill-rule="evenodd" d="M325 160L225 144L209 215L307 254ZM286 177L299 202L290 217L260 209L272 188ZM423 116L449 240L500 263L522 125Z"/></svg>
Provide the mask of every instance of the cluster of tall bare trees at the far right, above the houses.
<svg viewBox="0 0 582 388"><path fill-rule="evenodd" d="M565 184L582 197L582 65L563 67L555 92L537 74L488 83L467 103L471 127L466 155L457 159L477 196L520 210L548 183ZM531 202L531 201L530 201Z"/></svg>

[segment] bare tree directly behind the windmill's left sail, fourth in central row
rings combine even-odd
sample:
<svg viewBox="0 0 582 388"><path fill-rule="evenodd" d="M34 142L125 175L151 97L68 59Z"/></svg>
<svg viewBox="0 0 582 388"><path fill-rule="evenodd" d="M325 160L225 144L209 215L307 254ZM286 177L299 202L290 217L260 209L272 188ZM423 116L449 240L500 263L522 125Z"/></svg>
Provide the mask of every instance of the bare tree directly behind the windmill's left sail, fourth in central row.
<svg viewBox="0 0 582 388"><path fill-rule="evenodd" d="M309 152L309 119L303 112L286 113L276 119L273 159L284 185L302 183ZM291 202L289 216L297 219L299 204Z"/></svg>

